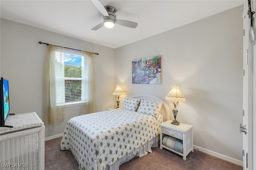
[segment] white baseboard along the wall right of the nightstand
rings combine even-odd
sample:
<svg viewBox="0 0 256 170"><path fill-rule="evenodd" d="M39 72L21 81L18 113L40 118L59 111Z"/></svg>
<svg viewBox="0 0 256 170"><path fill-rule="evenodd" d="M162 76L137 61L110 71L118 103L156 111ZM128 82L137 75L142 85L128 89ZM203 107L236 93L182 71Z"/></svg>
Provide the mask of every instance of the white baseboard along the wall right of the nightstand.
<svg viewBox="0 0 256 170"><path fill-rule="evenodd" d="M231 158L229 156L226 156L226 155L223 155L223 154L219 154L217 152L213 152L212 150L208 150L208 149L204 149L204 148L198 147L196 145L193 145L193 146L194 146L195 150L199 150L199 151L204 152L206 154L210 154L210 155L212 155L214 157L217 157L217 158L226 160L228 162L231 162L233 164L237 164L237 165L243 166L243 161L241 161L241 160L237 160L237 159Z"/></svg>

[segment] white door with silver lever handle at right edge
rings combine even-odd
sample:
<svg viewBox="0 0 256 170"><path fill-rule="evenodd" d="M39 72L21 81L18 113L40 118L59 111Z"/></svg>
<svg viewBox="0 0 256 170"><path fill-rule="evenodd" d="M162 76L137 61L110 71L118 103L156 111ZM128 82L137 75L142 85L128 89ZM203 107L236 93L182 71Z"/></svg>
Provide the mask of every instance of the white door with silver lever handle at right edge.
<svg viewBox="0 0 256 170"><path fill-rule="evenodd" d="M254 11L255 3L251 1L251 10ZM252 146L252 97L253 97L253 55L255 45L249 38L251 20L248 18L248 1L244 4L244 54L243 54L243 122L240 124L240 132L243 133L243 162L244 170L252 170L253 146ZM255 16L255 14L254 14ZM255 28L255 27L254 27ZM255 34L254 34L255 35Z"/></svg>

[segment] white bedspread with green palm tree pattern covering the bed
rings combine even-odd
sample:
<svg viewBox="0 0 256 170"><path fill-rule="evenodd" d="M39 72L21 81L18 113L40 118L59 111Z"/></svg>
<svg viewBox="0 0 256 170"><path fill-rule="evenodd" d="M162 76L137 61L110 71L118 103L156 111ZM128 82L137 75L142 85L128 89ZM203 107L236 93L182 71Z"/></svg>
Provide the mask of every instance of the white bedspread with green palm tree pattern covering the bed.
<svg viewBox="0 0 256 170"><path fill-rule="evenodd" d="M66 125L61 149L71 150L81 169L104 170L156 137L160 123L162 115L122 108L77 116Z"/></svg>

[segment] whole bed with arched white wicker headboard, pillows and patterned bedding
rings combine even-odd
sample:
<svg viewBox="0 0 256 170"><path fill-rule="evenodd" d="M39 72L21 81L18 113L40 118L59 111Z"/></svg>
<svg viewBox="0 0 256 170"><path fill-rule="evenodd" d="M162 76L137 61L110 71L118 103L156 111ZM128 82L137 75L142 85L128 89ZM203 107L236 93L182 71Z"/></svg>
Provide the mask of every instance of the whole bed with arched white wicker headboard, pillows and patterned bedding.
<svg viewBox="0 0 256 170"><path fill-rule="evenodd" d="M160 123L170 120L164 100L138 94L118 109L73 117L64 130L61 150L70 150L80 170L118 170L158 147Z"/></svg>

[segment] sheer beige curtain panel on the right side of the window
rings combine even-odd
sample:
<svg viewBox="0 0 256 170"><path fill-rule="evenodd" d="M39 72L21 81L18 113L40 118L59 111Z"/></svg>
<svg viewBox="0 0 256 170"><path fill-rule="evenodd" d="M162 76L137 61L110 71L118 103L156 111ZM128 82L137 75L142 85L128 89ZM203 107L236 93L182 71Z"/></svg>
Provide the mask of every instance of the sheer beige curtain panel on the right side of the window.
<svg viewBox="0 0 256 170"><path fill-rule="evenodd" d="M82 76L87 76L86 81L82 82L82 86L88 87L85 88L86 92L82 92L81 96L80 115L84 115L95 112L95 74L93 53L81 51L81 55L84 56L84 66L88 68L82 69L88 71L82 73ZM89 93L89 95L86 95L87 93Z"/></svg>

